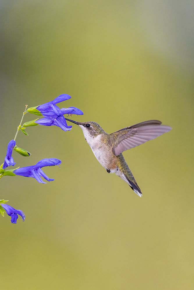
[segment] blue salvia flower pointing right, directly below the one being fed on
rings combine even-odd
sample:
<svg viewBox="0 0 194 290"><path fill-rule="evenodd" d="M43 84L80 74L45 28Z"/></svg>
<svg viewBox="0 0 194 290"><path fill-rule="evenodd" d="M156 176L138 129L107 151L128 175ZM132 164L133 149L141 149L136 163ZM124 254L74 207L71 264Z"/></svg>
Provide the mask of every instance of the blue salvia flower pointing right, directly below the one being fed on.
<svg viewBox="0 0 194 290"><path fill-rule="evenodd" d="M36 165L33 166L27 166L27 167L21 167L18 169L15 169L13 173L15 175L25 176L25 177L33 177L35 178L39 183L46 183L42 181L41 177L45 178L47 181L53 181L54 179L49 178L43 171L42 167L45 166L55 166L61 164L61 161L56 158L45 158L40 160Z"/></svg>

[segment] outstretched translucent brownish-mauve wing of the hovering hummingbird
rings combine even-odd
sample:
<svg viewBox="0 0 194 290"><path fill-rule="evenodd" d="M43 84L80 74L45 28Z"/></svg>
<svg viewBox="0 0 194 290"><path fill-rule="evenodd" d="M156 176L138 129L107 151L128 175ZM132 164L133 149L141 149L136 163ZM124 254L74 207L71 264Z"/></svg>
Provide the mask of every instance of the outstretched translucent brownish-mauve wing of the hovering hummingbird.
<svg viewBox="0 0 194 290"><path fill-rule="evenodd" d="M114 144L113 153L118 156L125 150L139 146L172 130L171 127L161 124L162 122L158 120L150 120L110 134L110 141Z"/></svg>

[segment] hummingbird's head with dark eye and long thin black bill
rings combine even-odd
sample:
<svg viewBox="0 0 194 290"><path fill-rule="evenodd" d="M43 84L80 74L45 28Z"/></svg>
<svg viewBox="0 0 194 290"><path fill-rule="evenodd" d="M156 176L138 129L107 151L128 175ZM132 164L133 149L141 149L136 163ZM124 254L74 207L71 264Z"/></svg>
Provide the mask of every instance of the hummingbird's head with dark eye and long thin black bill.
<svg viewBox="0 0 194 290"><path fill-rule="evenodd" d="M88 141L88 139L97 137L100 134L106 134L106 132L102 129L102 127L97 124L96 122L76 122L73 121L71 119L67 119L65 118L67 121L70 121L76 125L79 125L80 128L83 131L83 135L86 139L86 141Z"/></svg>

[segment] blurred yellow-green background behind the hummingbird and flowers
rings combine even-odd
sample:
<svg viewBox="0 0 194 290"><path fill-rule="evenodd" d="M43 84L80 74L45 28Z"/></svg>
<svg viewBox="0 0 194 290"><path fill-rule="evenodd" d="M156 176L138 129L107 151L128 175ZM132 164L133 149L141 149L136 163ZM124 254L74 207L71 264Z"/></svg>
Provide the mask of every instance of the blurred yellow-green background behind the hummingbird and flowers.
<svg viewBox="0 0 194 290"><path fill-rule="evenodd" d="M62 93L106 132L148 119L173 130L124 153L143 197L97 162L78 126L29 128L1 179L25 222L0 217L1 288L193 289L192 1L1 1L1 163L25 104ZM34 119L26 115L25 121Z"/></svg>

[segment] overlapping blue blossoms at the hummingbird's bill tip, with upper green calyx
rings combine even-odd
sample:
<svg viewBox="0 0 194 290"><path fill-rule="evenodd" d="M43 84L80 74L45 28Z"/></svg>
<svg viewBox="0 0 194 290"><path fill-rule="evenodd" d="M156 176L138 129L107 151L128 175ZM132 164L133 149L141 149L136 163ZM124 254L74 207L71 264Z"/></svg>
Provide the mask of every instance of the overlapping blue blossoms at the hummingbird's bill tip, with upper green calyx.
<svg viewBox="0 0 194 290"><path fill-rule="evenodd" d="M43 105L40 105L38 107L29 108L29 113L38 114L37 112L40 112L44 118L35 121L36 124L43 125L43 126L58 126L63 131L70 131L72 126L68 126L67 122L63 115L65 114L74 114L74 115L83 115L83 112L75 107L69 107L69 108L62 108L60 109L56 104L66 101L70 99L70 95L60 95L57 98L55 98L53 101L45 103Z"/></svg>

